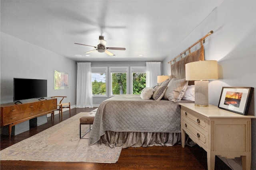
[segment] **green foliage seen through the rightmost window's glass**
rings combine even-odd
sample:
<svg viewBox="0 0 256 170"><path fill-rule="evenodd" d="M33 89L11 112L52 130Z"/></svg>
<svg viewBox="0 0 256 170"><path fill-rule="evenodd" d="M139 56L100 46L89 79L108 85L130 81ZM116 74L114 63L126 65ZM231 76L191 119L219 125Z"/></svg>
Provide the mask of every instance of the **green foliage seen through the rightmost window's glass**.
<svg viewBox="0 0 256 170"><path fill-rule="evenodd" d="M140 94L146 87L146 73L132 73L132 94Z"/></svg>

